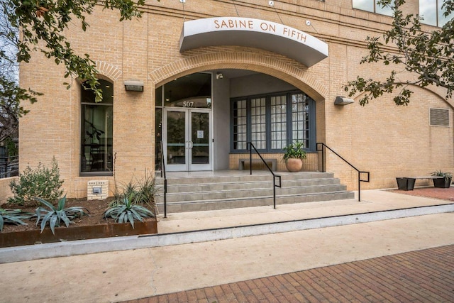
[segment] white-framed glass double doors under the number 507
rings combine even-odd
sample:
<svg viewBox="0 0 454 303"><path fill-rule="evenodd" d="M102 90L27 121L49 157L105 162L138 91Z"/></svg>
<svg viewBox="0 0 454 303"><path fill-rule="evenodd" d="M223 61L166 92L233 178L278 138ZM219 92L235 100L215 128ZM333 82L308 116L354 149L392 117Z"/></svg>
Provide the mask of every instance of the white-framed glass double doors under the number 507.
<svg viewBox="0 0 454 303"><path fill-rule="evenodd" d="M162 118L166 170L212 170L211 110L164 109Z"/></svg>

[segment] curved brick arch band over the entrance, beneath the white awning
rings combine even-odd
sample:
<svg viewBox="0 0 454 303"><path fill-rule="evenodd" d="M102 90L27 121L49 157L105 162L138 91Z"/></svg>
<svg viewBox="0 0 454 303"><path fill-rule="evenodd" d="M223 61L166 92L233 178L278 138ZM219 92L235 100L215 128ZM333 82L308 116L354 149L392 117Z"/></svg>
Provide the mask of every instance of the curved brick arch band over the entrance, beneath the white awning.
<svg viewBox="0 0 454 303"><path fill-rule="evenodd" d="M278 57L252 52L219 52L184 57L182 60L150 72L148 79L154 82L156 87L160 87L175 77L221 68L252 70L277 77L301 89L316 101L323 101L328 96L328 89L311 77L306 67L292 65L287 61L279 60Z"/></svg>

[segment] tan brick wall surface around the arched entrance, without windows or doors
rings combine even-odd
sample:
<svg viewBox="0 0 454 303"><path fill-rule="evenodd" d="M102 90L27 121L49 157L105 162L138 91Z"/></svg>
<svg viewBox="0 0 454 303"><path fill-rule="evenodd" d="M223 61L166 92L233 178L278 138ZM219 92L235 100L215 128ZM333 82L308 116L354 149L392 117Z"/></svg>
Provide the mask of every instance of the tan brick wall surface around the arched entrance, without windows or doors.
<svg viewBox="0 0 454 303"><path fill-rule="evenodd" d="M407 7L417 12L417 0ZM233 6L233 3L236 6ZM114 153L116 184L126 184L153 171L155 154L155 87L193 72L237 68L263 72L293 84L316 100L317 141L326 143L360 170L371 172L367 188L396 187L395 177L426 175L433 170L454 170L453 104L441 89L415 89L410 106L397 107L383 97L362 107L358 103L334 106L343 84L357 75L384 79L381 65L360 65L367 35L380 35L390 18L353 10L350 0L267 1L191 0L147 1L139 20L118 22L118 14L96 8L87 17L87 32L67 30L75 50L89 53L100 77L114 83ZM184 21L214 16L260 18L306 31L329 45L329 57L305 67L283 55L238 46L216 46L179 53ZM306 20L311 26L306 26ZM66 89L64 70L40 54L21 65L21 84L44 95L36 104L24 104L31 113L21 119L20 163L48 164L55 156L68 197L87 197L89 180L114 177L79 177L80 87L72 79ZM123 81L139 79L143 93L125 92ZM359 99L359 97L355 97ZM428 126L428 109L450 111L449 127ZM355 189L356 173L328 154L328 171ZM109 194L111 195L111 194Z"/></svg>

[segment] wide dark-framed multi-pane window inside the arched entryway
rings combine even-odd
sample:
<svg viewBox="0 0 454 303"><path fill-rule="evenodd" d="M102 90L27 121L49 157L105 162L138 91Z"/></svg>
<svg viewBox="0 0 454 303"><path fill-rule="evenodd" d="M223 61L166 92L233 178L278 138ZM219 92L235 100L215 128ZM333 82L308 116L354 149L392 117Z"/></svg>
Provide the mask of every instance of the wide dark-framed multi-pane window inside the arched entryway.
<svg viewBox="0 0 454 303"><path fill-rule="evenodd" d="M231 151L244 153L248 141L270 153L293 141L315 150L315 101L303 92L232 99Z"/></svg>

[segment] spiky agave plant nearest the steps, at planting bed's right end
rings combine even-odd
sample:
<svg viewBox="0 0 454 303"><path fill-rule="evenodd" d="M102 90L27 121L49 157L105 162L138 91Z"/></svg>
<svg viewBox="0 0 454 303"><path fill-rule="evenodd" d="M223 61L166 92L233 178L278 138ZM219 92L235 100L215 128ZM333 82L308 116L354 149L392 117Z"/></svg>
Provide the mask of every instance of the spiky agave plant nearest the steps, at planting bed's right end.
<svg viewBox="0 0 454 303"><path fill-rule="evenodd" d="M134 221L143 222L143 218L155 216L150 209L132 202L131 197L123 197L120 202L111 204L103 214L104 218L115 219L118 223L131 223L134 228Z"/></svg>

